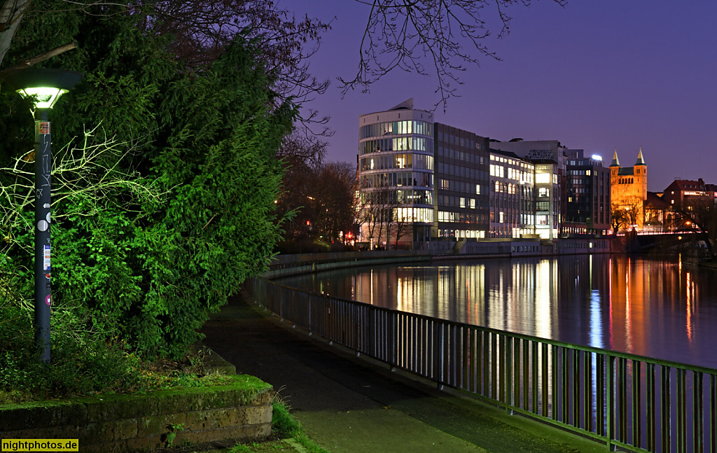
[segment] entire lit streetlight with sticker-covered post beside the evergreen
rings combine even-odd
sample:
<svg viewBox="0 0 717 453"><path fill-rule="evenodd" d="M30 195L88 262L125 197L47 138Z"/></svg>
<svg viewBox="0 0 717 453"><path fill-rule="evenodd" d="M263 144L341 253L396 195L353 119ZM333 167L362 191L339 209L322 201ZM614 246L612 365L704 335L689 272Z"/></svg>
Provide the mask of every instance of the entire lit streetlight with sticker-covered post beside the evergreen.
<svg viewBox="0 0 717 453"><path fill-rule="evenodd" d="M50 154L51 129L47 110L60 96L70 91L82 79L75 71L29 69L14 70L3 77L4 81L22 97L32 98L39 113L35 118L35 343L43 362L49 362L50 297Z"/></svg>

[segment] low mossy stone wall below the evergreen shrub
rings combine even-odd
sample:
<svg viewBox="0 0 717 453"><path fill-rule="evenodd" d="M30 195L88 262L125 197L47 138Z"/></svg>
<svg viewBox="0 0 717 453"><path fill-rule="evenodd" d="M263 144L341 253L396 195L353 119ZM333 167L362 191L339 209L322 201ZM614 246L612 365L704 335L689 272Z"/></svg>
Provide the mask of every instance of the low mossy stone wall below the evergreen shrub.
<svg viewBox="0 0 717 453"><path fill-rule="evenodd" d="M79 439L80 452L134 452L267 437L272 387L230 377L226 386L0 406L0 439Z"/></svg>

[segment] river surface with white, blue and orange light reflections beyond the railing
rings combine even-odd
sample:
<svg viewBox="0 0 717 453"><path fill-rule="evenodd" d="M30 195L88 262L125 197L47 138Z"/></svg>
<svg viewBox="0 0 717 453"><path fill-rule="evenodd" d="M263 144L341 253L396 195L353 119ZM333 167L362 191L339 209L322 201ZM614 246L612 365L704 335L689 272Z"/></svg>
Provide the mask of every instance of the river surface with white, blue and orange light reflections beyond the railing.
<svg viewBox="0 0 717 453"><path fill-rule="evenodd" d="M286 285L436 318L717 368L717 270L580 255L356 267Z"/></svg>

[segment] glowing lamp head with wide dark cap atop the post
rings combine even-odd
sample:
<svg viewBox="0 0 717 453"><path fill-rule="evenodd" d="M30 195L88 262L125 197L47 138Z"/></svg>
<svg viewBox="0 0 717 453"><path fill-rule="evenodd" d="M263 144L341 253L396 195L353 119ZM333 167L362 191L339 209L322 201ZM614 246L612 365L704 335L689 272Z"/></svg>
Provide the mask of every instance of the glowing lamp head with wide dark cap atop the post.
<svg viewBox="0 0 717 453"><path fill-rule="evenodd" d="M60 96L82 80L76 71L28 69L14 70L5 82L22 97L34 97L36 108L52 108Z"/></svg>

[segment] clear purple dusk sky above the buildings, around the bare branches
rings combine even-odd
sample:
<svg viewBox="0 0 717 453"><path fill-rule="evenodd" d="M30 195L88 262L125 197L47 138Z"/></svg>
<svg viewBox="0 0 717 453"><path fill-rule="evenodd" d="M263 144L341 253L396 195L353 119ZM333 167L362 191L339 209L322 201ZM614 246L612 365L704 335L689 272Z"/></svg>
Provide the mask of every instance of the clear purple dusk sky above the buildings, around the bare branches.
<svg viewBox="0 0 717 453"><path fill-rule="evenodd" d="M440 100L435 77L394 72L369 93L341 99L336 77L356 72L370 6L351 0L279 0L333 29L311 60L311 71L332 80L310 103L331 116L327 161L356 162L359 115L386 110L409 97L431 110ZM632 166L642 147L647 189L662 191L676 177L717 183L711 138L717 118L717 2L569 0L514 5L511 34L497 39L494 11L485 10L488 47L503 61L480 58L436 120L498 140L560 140L609 166L614 148ZM476 55L476 52L470 52ZM428 65L429 62L426 62Z"/></svg>

